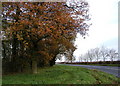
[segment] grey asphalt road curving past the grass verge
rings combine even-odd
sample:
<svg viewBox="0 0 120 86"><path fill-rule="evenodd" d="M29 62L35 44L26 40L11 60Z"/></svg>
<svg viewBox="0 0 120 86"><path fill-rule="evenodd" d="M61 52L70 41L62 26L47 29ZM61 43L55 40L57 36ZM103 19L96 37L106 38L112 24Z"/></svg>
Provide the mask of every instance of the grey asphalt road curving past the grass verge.
<svg viewBox="0 0 120 86"><path fill-rule="evenodd" d="M93 66L93 65L73 65L73 64L66 64L70 66L80 66L88 69L98 69L100 71L113 74L116 77L120 78L120 67L111 67L111 66Z"/></svg>

